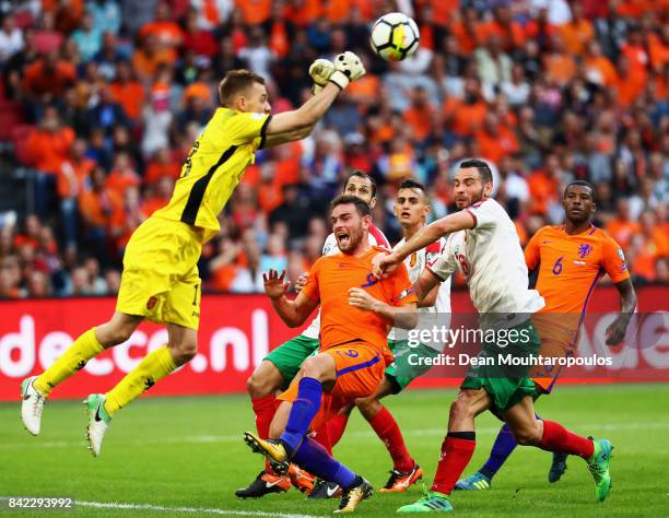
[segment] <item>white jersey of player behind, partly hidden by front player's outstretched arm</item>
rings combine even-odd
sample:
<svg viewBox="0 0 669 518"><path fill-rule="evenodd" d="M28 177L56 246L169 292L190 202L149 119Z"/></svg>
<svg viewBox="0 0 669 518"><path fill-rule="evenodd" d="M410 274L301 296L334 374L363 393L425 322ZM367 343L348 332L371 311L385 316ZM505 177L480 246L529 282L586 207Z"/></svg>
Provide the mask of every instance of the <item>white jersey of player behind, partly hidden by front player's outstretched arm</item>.
<svg viewBox="0 0 669 518"><path fill-rule="evenodd" d="M407 243L407 239L402 238L397 245L395 245L395 249L402 246ZM423 270L439 258L439 254L442 249L446 246L446 238L442 237L438 240L434 242L431 245L427 245L425 248L421 248L420 250L411 254L407 258L404 258L404 266L407 267L407 271L409 272L409 280L411 283L415 283L418 279L421 276ZM431 307L420 307L418 309L420 316L420 325L421 327L432 327L431 320L434 320L434 323L437 323L437 317L439 314L450 313L450 278L446 279L438 287L437 297L434 302L434 306ZM432 318L430 318L432 316ZM450 320L448 322L441 321L441 325L448 327L450 325ZM400 337L406 337L407 330L400 330ZM390 329L388 333L388 340L396 339L396 328ZM433 349L437 349L438 351L443 350L444 343L430 342L426 345L434 346ZM441 348L441 349L439 349Z"/></svg>

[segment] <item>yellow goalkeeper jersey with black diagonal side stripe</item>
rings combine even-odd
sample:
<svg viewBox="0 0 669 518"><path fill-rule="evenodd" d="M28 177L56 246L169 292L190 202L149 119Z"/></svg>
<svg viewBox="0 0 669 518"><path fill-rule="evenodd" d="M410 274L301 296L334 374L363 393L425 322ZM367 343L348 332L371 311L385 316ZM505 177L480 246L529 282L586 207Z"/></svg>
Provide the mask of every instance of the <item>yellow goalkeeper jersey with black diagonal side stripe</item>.
<svg viewBox="0 0 669 518"><path fill-rule="evenodd" d="M202 243L221 229L218 215L265 144L271 115L218 108L192 144L169 203L153 216L203 228Z"/></svg>

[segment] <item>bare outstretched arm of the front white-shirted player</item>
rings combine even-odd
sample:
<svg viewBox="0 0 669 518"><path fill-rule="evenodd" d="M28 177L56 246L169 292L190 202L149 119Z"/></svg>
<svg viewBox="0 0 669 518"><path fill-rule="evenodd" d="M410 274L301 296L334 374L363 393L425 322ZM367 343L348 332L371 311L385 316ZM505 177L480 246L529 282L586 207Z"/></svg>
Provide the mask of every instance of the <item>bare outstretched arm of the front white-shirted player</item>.
<svg viewBox="0 0 669 518"><path fill-rule="evenodd" d="M421 248L425 248L439 237L445 237L454 232L473 228L474 226L474 216L469 211L459 211L448 214L446 217L442 217L421 228L411 239L401 247L392 250L385 258L379 260L375 258L374 274L376 276L383 275L383 273L389 271L390 267L399 264L404 258Z"/></svg>

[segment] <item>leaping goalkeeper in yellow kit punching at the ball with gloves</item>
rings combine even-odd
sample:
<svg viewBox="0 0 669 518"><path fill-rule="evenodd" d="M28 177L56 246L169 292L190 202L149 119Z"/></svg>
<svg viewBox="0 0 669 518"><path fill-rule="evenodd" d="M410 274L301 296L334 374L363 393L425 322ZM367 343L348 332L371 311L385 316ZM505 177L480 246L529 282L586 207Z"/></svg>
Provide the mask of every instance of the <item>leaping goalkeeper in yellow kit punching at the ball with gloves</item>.
<svg viewBox="0 0 669 518"><path fill-rule="evenodd" d="M326 61L327 62L327 61ZM320 61L310 71L318 73ZM232 70L219 85L216 109L192 145L169 203L133 233L124 256L124 276L109 321L84 331L44 373L23 380L21 417L39 434L51 390L103 351L127 341L144 319L167 327L167 343L146 355L106 395L86 398L89 448L94 456L116 413L197 353L200 319L198 260L202 245L221 226L224 209L246 167L262 148L307 137L339 93L365 73L352 52L337 57L337 70L319 74L321 92L300 108L270 115L265 80Z"/></svg>

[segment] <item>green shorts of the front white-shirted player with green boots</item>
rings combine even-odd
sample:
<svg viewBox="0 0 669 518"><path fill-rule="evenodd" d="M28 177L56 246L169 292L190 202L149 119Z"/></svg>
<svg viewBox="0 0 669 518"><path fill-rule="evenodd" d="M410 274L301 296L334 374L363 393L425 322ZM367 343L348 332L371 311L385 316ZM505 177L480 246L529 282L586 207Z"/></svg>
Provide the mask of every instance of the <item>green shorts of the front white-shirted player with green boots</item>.
<svg viewBox="0 0 669 518"><path fill-rule="evenodd" d="M490 344L484 346L477 358L492 357L494 365L477 365L469 368L461 389L485 389L492 398L489 409L498 419L502 413L519 403L526 396L537 398L538 392L535 381L527 376L528 366L500 365L501 355L527 358L537 356L541 346L541 340L531 320L527 320L515 328L518 330L518 340L509 341L505 348ZM524 338L525 337L525 338Z"/></svg>

